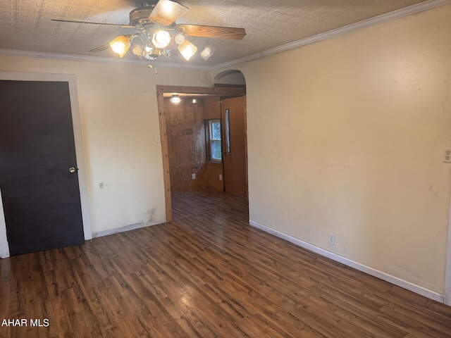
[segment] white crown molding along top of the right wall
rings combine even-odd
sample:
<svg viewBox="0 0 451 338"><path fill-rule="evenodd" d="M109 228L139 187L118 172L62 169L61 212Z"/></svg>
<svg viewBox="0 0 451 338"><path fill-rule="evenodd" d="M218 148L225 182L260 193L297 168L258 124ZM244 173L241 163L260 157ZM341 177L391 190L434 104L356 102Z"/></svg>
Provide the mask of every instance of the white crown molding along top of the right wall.
<svg viewBox="0 0 451 338"><path fill-rule="evenodd" d="M429 0L422 2L421 4L415 4L409 7L398 9L397 11L392 11L390 13L381 14L375 16L373 18L369 18L366 20L359 21L358 23L352 23L350 25L346 25L340 28L336 28L335 30L329 30L328 32L323 32L317 35L313 35L311 37L306 37L305 39L300 39L295 42L290 42L288 44L283 44L280 46L273 47L271 49L266 49L265 51L260 51L259 53L251 54L249 56L245 56L243 58L235 59L233 61L220 63L218 65L213 66L213 70L220 70L222 68L228 68L233 65L237 65L239 63L245 63L246 61L252 61L257 58L263 58L265 56L270 56L273 54L280 53L282 51L288 51L290 49L295 49L301 46L305 46L307 44L313 44L314 42L319 42L322 40L330 39L331 37L338 37L339 35L344 35L350 32L355 32L357 30L363 30L366 27L371 27L373 25L379 25L381 23L387 23L391 20L396 20L400 18L404 18L409 15L413 15L416 13L421 13L424 11L428 11L429 9L444 6L447 4L451 4L451 0Z"/></svg>

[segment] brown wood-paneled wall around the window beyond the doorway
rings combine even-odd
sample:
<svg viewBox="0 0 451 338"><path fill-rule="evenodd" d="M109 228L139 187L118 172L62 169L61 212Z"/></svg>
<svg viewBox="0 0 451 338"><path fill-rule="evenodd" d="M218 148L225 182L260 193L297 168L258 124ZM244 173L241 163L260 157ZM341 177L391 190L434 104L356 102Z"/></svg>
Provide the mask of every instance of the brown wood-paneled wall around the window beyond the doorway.
<svg viewBox="0 0 451 338"><path fill-rule="evenodd" d="M219 97L200 99L197 104L183 100L171 104L164 99L168 134L171 192L189 192L209 187L223 191L221 163L206 162L204 120L221 117ZM192 174L196 179L192 180Z"/></svg>

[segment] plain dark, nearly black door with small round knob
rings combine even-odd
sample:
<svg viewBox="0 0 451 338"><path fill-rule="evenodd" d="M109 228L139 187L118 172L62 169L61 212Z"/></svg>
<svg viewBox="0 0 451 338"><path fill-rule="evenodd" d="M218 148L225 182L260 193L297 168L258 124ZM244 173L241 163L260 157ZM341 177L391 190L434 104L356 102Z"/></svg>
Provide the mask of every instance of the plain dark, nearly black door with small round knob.
<svg viewBox="0 0 451 338"><path fill-rule="evenodd" d="M0 189L11 256L85 241L68 82L0 81Z"/></svg>

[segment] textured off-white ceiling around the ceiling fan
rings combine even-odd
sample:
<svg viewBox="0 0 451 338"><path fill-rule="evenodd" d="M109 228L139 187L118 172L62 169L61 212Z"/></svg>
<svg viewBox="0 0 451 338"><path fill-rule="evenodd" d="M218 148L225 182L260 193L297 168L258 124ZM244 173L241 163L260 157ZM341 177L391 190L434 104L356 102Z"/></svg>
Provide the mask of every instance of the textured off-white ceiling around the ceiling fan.
<svg viewBox="0 0 451 338"><path fill-rule="evenodd" d="M51 19L128 24L138 0L0 0L0 49L117 58L111 51L90 49L128 28L58 23ZM168 63L218 65L295 42L345 25L373 18L424 0L180 0L190 8L177 23L243 27L240 40L190 37L199 47L214 46L208 61L172 56ZM125 58L137 58L130 52Z"/></svg>

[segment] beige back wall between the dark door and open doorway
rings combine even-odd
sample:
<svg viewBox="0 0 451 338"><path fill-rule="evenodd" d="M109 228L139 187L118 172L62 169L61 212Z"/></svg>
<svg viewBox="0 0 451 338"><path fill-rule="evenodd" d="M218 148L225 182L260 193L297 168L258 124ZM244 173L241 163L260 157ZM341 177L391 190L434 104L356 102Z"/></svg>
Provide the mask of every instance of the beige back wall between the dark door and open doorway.
<svg viewBox="0 0 451 338"><path fill-rule="evenodd" d="M156 84L209 87L210 72L12 56L0 71L76 75L94 235L165 221Z"/></svg>

